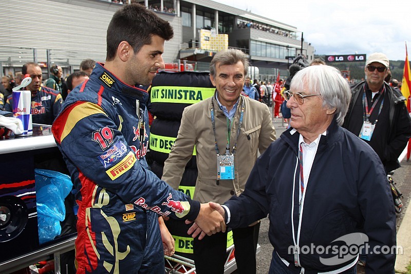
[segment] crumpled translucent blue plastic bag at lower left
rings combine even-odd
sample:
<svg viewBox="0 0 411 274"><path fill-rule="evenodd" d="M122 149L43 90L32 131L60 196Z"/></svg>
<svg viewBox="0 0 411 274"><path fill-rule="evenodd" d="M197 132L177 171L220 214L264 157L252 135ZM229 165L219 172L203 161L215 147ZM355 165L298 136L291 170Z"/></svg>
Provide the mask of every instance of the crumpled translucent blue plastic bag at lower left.
<svg viewBox="0 0 411 274"><path fill-rule="evenodd" d="M39 242L43 244L60 235L60 222L66 216L64 199L73 184L70 176L57 171L35 169L34 172Z"/></svg>

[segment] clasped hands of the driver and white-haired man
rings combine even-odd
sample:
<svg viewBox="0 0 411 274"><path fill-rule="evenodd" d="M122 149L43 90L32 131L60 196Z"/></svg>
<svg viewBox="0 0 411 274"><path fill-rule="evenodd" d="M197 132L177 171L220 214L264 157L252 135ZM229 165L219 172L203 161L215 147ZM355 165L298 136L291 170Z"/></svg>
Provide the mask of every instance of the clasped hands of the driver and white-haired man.
<svg viewBox="0 0 411 274"><path fill-rule="evenodd" d="M201 240L206 234L211 236L220 231L226 232L226 222L224 220L225 211L220 204L213 202L201 204L200 212L187 233L193 238L198 236L198 240ZM193 222L186 220L185 223L191 224Z"/></svg>

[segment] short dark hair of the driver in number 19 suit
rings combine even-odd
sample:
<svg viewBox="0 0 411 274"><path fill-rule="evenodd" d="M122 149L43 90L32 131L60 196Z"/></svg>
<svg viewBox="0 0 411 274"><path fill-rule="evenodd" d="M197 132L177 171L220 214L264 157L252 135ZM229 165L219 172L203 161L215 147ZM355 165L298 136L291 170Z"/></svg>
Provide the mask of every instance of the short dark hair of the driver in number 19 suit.
<svg viewBox="0 0 411 274"><path fill-rule="evenodd" d="M169 22L140 4L123 6L113 15L107 28L106 61L115 58L122 41L127 41L137 53L143 45L151 44L153 35L168 41L173 38L173 28Z"/></svg>

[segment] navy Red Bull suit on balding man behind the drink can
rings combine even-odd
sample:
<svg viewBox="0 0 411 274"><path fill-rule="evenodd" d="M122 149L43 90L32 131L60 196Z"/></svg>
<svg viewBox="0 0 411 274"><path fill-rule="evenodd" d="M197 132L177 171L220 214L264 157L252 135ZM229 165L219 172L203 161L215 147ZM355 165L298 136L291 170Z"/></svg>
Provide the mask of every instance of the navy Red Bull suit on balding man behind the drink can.
<svg viewBox="0 0 411 274"><path fill-rule="evenodd" d="M36 124L52 124L59 115L63 103L61 94L49 87L41 86L37 92L31 93L32 121ZM13 95L10 95L4 110L13 112Z"/></svg>

